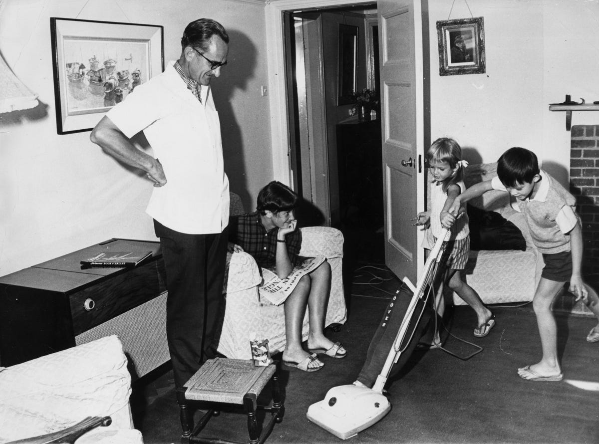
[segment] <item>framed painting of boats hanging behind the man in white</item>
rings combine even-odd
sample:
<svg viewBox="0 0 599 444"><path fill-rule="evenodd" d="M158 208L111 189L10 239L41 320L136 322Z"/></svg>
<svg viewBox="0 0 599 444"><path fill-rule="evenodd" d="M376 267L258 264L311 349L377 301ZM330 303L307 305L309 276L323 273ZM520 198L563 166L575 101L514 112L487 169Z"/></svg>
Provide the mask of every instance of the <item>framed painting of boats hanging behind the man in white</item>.
<svg viewBox="0 0 599 444"><path fill-rule="evenodd" d="M164 70L164 28L50 17L56 131L92 130L138 85Z"/></svg>

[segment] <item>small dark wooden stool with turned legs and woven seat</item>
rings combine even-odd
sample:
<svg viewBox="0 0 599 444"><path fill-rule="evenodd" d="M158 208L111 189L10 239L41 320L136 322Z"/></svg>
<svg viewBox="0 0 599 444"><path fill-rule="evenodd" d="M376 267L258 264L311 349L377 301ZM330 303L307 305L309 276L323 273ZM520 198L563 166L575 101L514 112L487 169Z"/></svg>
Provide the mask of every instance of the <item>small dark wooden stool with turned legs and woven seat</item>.
<svg viewBox="0 0 599 444"><path fill-rule="evenodd" d="M272 381L273 405L261 406L256 400L268 381ZM275 422L283 421L285 407L279 388L277 364L256 367L251 360L214 358L206 361L189 381L177 389L177 402L181 409L182 443L235 443L222 439L202 439L197 434L207 424L211 416L219 415L219 410L209 408L193 427L193 411L188 402L208 402L239 404L247 413L247 431L250 444L264 443ZM256 410L271 412L268 425L259 433Z"/></svg>

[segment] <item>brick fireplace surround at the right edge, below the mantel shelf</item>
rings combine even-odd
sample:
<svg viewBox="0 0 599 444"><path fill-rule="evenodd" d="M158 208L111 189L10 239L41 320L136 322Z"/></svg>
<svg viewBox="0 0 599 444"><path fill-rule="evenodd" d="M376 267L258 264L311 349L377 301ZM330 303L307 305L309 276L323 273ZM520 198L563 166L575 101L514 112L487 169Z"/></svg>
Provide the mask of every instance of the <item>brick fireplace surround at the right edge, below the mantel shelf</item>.
<svg viewBox="0 0 599 444"><path fill-rule="evenodd" d="M570 192L582 220L582 274L599 290L599 125L575 125L570 137Z"/></svg>

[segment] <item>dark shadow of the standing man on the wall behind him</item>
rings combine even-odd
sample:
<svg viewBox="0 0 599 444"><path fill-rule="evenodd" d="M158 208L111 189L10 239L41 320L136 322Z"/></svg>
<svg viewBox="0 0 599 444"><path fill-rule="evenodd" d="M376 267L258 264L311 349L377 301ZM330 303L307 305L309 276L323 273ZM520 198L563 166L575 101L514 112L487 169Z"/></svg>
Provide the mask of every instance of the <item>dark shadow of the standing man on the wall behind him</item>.
<svg viewBox="0 0 599 444"><path fill-rule="evenodd" d="M247 206L250 202L250 194L246 180L246 153L231 101L235 93L247 94L247 81L253 77L256 68L256 47L245 34L239 31L228 29L227 33L229 34L229 64L222 68L221 77L213 80L211 86L214 104L220 118L225 172L229 177L231 191L239 194Z"/></svg>

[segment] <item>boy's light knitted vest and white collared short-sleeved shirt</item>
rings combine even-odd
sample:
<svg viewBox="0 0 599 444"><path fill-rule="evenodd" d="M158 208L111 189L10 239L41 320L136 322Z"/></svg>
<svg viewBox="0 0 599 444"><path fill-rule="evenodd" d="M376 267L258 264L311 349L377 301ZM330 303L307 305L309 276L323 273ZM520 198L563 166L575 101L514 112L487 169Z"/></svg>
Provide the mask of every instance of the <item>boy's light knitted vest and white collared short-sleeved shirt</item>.
<svg viewBox="0 0 599 444"><path fill-rule="evenodd" d="M517 201L518 209L526 216L533 241L541 253L569 251L568 233L579 221L574 211L576 199L543 170L539 175L541 180L533 199ZM497 176L492 178L491 186L494 190L507 191Z"/></svg>

